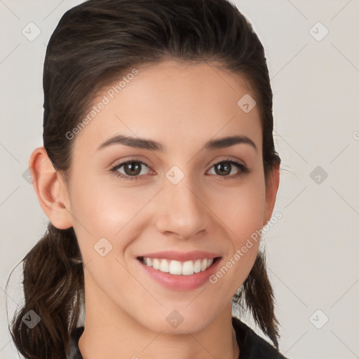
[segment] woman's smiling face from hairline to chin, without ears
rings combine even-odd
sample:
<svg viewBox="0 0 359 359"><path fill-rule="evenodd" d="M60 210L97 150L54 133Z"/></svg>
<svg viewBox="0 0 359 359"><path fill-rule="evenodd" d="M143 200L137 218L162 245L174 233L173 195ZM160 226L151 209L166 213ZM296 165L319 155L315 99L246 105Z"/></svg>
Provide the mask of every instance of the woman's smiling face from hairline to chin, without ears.
<svg viewBox="0 0 359 359"><path fill-rule="evenodd" d="M234 256L271 215L259 109L237 104L255 98L248 83L209 65L137 71L121 92L112 88L121 79L103 90L72 139L67 209L85 264L86 311L196 332L231 305L259 241ZM130 137L127 145L104 144L118 135ZM232 136L242 140L218 142ZM169 325L181 318L185 326Z"/></svg>

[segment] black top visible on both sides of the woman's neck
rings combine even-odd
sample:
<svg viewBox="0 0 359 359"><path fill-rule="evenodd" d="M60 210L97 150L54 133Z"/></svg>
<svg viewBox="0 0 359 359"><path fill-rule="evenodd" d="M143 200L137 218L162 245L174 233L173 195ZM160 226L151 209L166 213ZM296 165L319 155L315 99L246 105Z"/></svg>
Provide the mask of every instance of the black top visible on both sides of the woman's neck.
<svg viewBox="0 0 359 359"><path fill-rule="evenodd" d="M239 346L238 359L287 359L238 318L232 317L232 325ZM68 359L83 359L79 350L79 338L84 329L78 327L72 332Z"/></svg>

